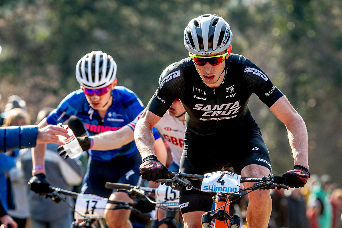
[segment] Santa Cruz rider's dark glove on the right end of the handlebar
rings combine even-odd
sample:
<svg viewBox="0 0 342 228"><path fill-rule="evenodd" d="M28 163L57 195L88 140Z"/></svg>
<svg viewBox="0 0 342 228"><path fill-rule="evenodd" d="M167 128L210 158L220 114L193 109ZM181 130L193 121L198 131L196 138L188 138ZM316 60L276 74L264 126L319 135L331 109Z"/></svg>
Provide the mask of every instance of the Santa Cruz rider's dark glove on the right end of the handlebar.
<svg viewBox="0 0 342 228"><path fill-rule="evenodd" d="M285 177L285 185L290 188L304 187L306 180L310 178L309 171L301 165L295 165L293 170L289 170L282 176Z"/></svg>

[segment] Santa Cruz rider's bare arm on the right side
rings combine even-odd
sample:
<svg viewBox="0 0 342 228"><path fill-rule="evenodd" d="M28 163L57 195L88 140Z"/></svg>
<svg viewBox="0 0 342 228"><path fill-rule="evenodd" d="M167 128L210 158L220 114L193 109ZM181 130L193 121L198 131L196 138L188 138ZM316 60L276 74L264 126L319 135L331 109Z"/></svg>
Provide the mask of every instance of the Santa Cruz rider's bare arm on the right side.
<svg viewBox="0 0 342 228"><path fill-rule="evenodd" d="M303 118L294 110L286 96L280 97L269 109L286 126L294 165L309 169L308 138Z"/></svg>

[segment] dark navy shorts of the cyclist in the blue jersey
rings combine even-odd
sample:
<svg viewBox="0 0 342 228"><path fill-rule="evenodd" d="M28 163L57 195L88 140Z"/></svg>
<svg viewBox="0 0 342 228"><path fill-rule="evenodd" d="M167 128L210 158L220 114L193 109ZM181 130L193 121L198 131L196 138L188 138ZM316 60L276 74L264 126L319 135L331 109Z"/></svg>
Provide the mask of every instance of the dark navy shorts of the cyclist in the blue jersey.
<svg viewBox="0 0 342 228"><path fill-rule="evenodd" d="M90 157L81 192L109 198L115 190L105 188L106 182L137 185L140 179L141 163L139 153L129 158L116 157L109 162L97 161Z"/></svg>

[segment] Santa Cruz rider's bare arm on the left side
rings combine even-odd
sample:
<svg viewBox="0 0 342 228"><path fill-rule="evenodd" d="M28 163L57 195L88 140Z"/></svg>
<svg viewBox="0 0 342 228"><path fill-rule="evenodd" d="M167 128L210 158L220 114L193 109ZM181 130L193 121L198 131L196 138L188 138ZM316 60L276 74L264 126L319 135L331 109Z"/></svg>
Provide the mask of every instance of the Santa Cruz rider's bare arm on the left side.
<svg viewBox="0 0 342 228"><path fill-rule="evenodd" d="M155 155L152 128L160 119L161 117L145 110L135 126L134 140L143 159Z"/></svg>

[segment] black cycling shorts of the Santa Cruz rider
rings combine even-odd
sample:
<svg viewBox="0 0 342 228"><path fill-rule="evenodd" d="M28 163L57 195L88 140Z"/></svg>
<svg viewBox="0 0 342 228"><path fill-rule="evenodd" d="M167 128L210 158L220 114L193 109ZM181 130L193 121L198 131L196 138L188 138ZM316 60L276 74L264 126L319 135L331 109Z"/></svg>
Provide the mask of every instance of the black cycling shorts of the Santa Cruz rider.
<svg viewBox="0 0 342 228"><path fill-rule="evenodd" d="M197 135L186 130L180 163L181 173L205 174L232 166L235 173L240 175L241 170L250 164L265 166L272 172L268 149L258 127L247 133L237 134ZM200 181L191 180L191 183L194 187L201 188ZM215 194L184 187L179 198L182 214L210 211Z"/></svg>

